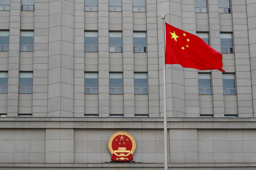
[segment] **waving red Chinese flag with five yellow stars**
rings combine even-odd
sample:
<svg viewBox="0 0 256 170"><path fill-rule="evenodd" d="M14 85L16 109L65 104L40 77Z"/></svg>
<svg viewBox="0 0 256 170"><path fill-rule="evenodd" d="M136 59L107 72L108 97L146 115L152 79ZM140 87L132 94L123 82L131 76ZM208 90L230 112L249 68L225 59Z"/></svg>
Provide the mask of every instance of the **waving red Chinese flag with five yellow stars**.
<svg viewBox="0 0 256 170"><path fill-rule="evenodd" d="M165 23L165 64L198 70L222 70L222 55L201 38Z"/></svg>

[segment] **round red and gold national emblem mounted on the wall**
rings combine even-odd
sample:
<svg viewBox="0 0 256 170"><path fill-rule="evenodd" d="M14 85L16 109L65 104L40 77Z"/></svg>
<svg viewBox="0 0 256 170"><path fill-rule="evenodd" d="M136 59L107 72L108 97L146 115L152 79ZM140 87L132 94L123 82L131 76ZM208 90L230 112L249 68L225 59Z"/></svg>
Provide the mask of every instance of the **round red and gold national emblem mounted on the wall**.
<svg viewBox="0 0 256 170"><path fill-rule="evenodd" d="M121 143L121 140L126 142ZM108 140L108 150L112 154L111 159L113 161L131 161L135 149L136 142L132 135L127 132L116 132Z"/></svg>

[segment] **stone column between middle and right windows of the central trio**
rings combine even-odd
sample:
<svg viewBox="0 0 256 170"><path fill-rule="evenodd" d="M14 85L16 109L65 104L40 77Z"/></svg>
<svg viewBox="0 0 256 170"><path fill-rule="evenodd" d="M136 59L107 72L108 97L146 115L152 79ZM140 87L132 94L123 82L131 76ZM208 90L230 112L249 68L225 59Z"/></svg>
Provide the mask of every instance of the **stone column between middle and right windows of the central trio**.
<svg viewBox="0 0 256 170"><path fill-rule="evenodd" d="M124 117L134 117L132 0L123 1Z"/></svg>

